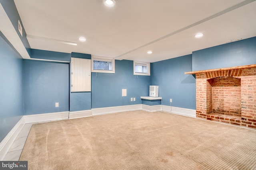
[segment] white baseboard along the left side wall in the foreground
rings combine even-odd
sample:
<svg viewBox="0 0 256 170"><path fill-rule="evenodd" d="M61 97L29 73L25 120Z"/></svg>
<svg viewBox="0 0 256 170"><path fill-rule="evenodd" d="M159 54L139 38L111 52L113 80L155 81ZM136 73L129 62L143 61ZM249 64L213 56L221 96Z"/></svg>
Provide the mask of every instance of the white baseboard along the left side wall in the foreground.
<svg viewBox="0 0 256 170"><path fill-rule="evenodd" d="M16 137L26 124L24 117L22 117L18 123L12 128L12 130L6 135L6 137L0 143L0 161L4 160L4 157L12 147Z"/></svg>

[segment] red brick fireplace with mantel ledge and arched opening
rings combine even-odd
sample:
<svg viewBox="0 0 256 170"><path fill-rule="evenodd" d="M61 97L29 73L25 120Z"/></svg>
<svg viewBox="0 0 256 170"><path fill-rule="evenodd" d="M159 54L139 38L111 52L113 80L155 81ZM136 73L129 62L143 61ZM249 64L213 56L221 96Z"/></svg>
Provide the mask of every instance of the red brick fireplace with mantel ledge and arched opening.
<svg viewBox="0 0 256 170"><path fill-rule="evenodd" d="M256 129L256 64L196 75L196 117Z"/></svg>

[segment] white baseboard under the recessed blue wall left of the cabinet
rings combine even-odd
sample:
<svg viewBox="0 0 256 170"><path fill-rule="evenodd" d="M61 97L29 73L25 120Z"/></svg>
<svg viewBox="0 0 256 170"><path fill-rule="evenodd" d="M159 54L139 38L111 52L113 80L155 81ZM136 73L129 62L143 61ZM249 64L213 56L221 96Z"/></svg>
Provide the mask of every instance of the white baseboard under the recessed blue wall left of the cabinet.
<svg viewBox="0 0 256 170"><path fill-rule="evenodd" d="M56 112L56 113L42 113L35 115L24 115L26 123L35 123L43 121L56 121L62 119L68 119L69 111Z"/></svg>

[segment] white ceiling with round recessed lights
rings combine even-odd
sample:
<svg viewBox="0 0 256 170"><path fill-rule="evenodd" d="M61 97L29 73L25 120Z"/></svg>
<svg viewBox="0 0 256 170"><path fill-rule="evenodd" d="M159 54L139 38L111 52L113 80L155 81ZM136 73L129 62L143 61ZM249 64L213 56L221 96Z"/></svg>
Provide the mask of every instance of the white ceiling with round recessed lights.
<svg viewBox="0 0 256 170"><path fill-rule="evenodd" d="M156 62L256 36L255 0L14 2L32 49Z"/></svg>

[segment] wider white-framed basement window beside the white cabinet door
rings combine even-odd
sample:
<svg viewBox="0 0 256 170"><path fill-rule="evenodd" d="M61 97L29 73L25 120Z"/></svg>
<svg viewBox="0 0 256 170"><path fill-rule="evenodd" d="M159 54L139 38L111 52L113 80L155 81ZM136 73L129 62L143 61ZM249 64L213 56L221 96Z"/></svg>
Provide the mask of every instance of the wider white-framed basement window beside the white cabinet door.
<svg viewBox="0 0 256 170"><path fill-rule="evenodd" d="M114 58L92 56L92 72L115 73Z"/></svg>

